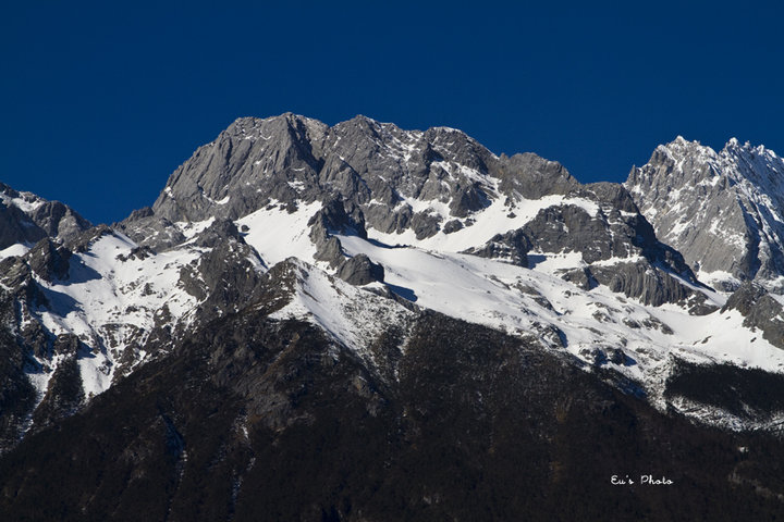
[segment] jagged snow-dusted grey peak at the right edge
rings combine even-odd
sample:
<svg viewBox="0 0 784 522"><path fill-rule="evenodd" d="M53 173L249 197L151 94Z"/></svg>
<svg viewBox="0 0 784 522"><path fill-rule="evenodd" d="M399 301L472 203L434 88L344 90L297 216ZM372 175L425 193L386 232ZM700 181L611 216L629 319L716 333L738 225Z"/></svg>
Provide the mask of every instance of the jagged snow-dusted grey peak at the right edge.
<svg viewBox="0 0 784 522"><path fill-rule="evenodd" d="M720 289L784 274L784 161L732 139L716 152L678 137L626 181L659 238Z"/></svg>

